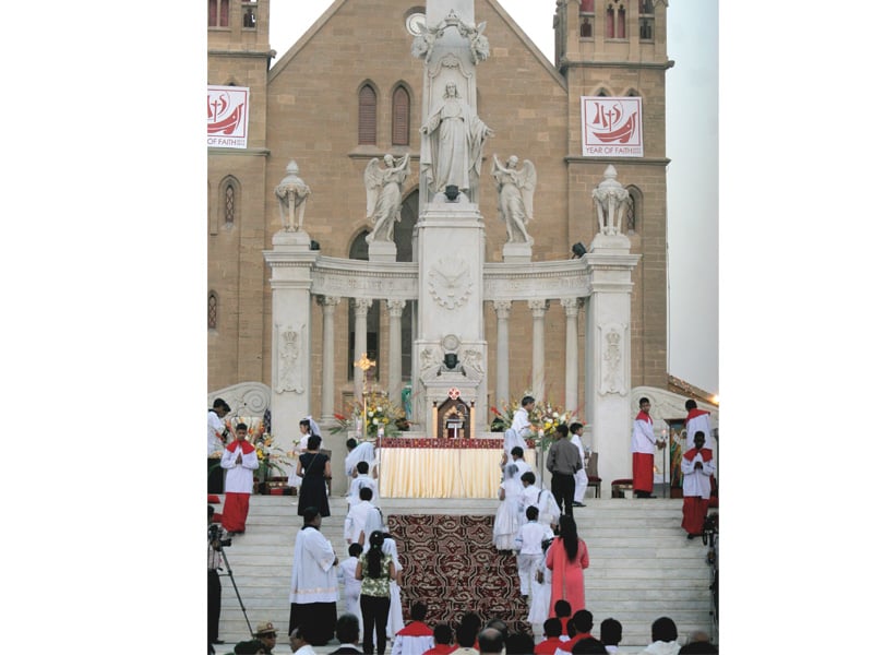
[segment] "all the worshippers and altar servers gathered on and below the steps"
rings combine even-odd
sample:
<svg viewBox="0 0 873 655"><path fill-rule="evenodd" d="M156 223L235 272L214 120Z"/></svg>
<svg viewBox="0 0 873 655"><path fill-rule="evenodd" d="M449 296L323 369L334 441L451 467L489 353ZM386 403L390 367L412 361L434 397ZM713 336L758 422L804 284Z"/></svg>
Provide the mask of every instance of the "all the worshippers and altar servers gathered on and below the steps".
<svg viewBox="0 0 873 655"><path fill-rule="evenodd" d="M501 502L494 517L493 545L499 551L516 556L521 593L528 604L527 621L533 627L542 628L541 639L535 642L531 634L510 633L505 622L499 619L491 619L482 627L481 620L473 614L454 627L446 623L430 627L426 622L427 606L423 603L412 605L411 620L404 624L400 603L403 564L379 507L375 448L370 442L358 443L355 439L346 443L348 454L344 469L348 477L348 492L344 537L347 557L344 555L340 561L331 541L320 531L322 519L331 515L331 462L321 452L322 438L318 425L308 417L300 421L302 438L296 469L298 515L302 516L303 525L295 538L289 594L288 635L295 653L314 653L313 647L325 646L334 638L339 641L339 646L333 653L366 655L385 655L388 643L392 655L619 652L621 623L613 618L605 619L600 623L599 639L595 638L591 634L594 617L585 604L584 570L589 565L589 555L573 516L573 508L585 507L582 500L587 487L587 478L578 476L581 471L584 475L585 449L579 439L582 425L557 427L546 458L547 468L552 474L551 491L541 488L525 461L525 439L531 429L528 412L533 403L534 398L529 396L523 400L504 440ZM689 420L694 419L696 426L704 428L695 431L692 445L682 460L685 490L682 527L692 538L703 532L715 467L711 450L707 448L707 413L697 410L692 415L696 406L686 407ZM632 436L634 490L643 498L649 497L651 491L650 463L647 474L642 469L646 468L654 448L658 445L651 430L649 408L648 400L641 398ZM212 415L220 418L228 410L220 398L210 410L211 449L217 439L226 437L218 431ZM571 432L575 441L570 440ZM220 558L217 552L223 538L244 533L253 471L258 468L254 449L246 440L248 426L238 424L234 433L236 439L225 446L220 457L220 466L227 472L222 525L211 533L210 653L215 653L213 644L223 643L218 640L216 609L220 607L217 575ZM653 452L642 452L648 450ZM581 495L577 484L585 485ZM212 507L208 519L212 524ZM340 593L346 611L337 616L336 600ZM273 623L259 624L253 638L238 643L234 653L270 655L276 643ZM661 617L653 623L651 643L641 654L717 652L717 646L709 643L706 635L693 635L686 644L680 645L674 622Z"/></svg>

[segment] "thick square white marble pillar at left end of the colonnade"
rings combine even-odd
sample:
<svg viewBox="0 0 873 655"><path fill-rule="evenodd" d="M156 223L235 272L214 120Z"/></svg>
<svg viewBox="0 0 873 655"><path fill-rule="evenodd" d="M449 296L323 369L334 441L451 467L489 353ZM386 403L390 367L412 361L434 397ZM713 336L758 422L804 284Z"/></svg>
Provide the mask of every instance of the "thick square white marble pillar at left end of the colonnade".
<svg viewBox="0 0 873 655"><path fill-rule="evenodd" d="M273 290L273 361L270 412L276 444L286 450L298 433L297 422L311 410L312 317L310 289L318 251L309 249L309 235L282 230L273 249L264 251Z"/></svg>

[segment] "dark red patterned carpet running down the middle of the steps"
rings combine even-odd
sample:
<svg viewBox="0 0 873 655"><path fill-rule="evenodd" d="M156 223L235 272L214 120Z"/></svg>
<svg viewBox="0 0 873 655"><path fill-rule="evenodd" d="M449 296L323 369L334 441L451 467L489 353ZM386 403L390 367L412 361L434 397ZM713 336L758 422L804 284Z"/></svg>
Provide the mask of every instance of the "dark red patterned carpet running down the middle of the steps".
<svg viewBox="0 0 873 655"><path fill-rule="evenodd" d="M403 564L404 621L414 603L428 605L427 622L454 626L474 611L500 618L510 631L530 632L515 556L491 544L493 516L404 514L388 517Z"/></svg>

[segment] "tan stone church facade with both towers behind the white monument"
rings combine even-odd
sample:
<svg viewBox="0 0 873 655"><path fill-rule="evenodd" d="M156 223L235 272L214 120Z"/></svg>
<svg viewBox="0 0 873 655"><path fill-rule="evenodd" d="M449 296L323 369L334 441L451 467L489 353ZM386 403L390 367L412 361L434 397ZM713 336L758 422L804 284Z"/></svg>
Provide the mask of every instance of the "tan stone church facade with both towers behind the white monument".
<svg viewBox="0 0 873 655"><path fill-rule="evenodd" d="M311 189L303 228L321 255L367 259L363 174L386 153L408 154L411 174L403 188L403 221L395 226L397 261L411 261L418 216L421 61L410 53L414 17L424 0L338 0L285 53L271 51L270 1L211 0L210 84L250 88L248 147L208 151L208 386L272 381L271 267L264 252L282 228L274 189L294 160ZM663 0L558 0L555 61L548 61L498 0L476 0L476 23L487 23L490 56L478 67L479 117L494 131L482 162L479 209L486 225L486 262L503 260L506 228L488 171L493 155L531 160L537 168L533 262L569 260L576 242L598 231L594 189L609 165L631 192L633 211L622 231L639 255L631 294L631 385L667 389L667 215L665 152L666 53ZM252 19L251 16L254 16ZM248 17L247 17L248 16ZM214 24L213 24L214 23ZM278 57L274 61L274 57ZM272 63L272 66L271 66ZM582 96L638 96L643 103L645 156L583 157ZM451 251L452 243L445 243ZM311 380L313 416L342 410L355 390L354 307L334 309L334 397L321 397L322 311L312 298ZM486 303L491 305L491 303ZM301 313L306 308L301 308ZM510 398L531 388L534 321L526 303L509 310ZM411 374L414 308L403 309L402 374ZM578 350L585 357L585 312L578 312ZM485 333L497 342L494 307L485 307ZM390 308L374 301L367 315L367 349L378 362L376 384L387 390ZM567 315L546 305L545 395L564 405ZM495 370L495 348L488 370ZM578 403L584 407L584 362ZM579 409L582 414L582 409Z"/></svg>

